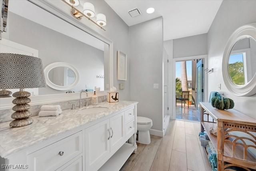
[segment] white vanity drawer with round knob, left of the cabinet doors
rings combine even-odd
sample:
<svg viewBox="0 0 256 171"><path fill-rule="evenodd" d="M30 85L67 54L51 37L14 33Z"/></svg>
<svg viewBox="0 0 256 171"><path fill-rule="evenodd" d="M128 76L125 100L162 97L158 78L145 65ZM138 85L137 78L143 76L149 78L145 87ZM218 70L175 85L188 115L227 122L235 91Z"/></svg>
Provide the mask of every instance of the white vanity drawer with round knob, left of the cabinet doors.
<svg viewBox="0 0 256 171"><path fill-rule="evenodd" d="M80 153L82 153L82 131L29 154L29 169L31 171L56 170Z"/></svg>

